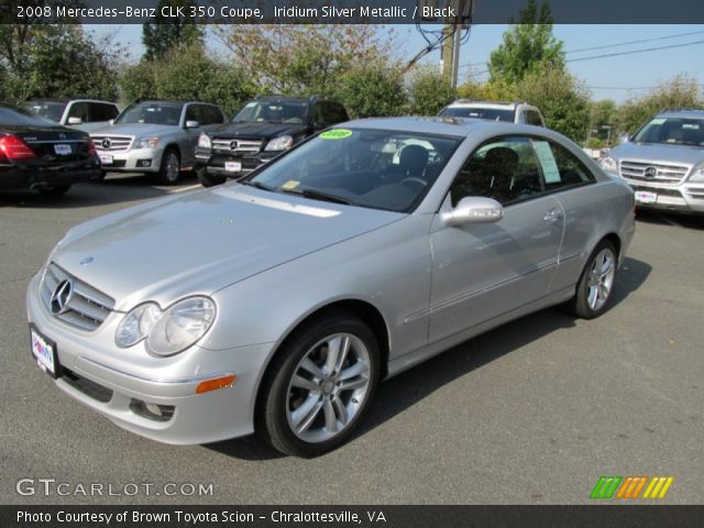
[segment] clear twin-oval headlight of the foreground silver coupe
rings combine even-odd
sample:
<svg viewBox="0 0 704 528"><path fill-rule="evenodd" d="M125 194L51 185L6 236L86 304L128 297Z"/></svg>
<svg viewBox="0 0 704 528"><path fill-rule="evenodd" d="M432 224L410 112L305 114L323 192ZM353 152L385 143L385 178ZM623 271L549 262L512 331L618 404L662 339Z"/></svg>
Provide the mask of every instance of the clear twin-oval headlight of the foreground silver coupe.
<svg viewBox="0 0 704 528"><path fill-rule="evenodd" d="M188 297L162 311L145 302L130 311L118 326L114 342L121 349L146 340L157 355L173 355L195 344L216 318L216 304L208 297Z"/></svg>

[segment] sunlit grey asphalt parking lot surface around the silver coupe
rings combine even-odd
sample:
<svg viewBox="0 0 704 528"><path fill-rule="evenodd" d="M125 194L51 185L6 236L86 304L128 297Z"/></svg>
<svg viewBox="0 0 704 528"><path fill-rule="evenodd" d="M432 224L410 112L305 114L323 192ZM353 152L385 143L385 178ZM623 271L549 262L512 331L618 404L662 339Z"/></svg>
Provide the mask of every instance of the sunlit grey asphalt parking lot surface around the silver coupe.
<svg viewBox="0 0 704 528"><path fill-rule="evenodd" d="M602 475L673 476L657 502L704 503L697 218L639 215L607 314L544 310L382 384L318 459L255 438L165 446L74 402L30 356L30 277L72 226L195 184L0 193L0 504L588 504Z"/></svg>

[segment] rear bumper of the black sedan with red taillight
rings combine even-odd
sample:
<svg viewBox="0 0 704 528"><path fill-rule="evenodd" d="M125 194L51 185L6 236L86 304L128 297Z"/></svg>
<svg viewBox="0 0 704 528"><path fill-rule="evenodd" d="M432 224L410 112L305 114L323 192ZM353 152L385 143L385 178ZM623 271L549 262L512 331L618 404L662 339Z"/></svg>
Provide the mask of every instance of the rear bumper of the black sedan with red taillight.
<svg viewBox="0 0 704 528"><path fill-rule="evenodd" d="M35 187L80 184L100 177L98 158L73 162L61 166L29 164L0 166L0 189L28 189Z"/></svg>

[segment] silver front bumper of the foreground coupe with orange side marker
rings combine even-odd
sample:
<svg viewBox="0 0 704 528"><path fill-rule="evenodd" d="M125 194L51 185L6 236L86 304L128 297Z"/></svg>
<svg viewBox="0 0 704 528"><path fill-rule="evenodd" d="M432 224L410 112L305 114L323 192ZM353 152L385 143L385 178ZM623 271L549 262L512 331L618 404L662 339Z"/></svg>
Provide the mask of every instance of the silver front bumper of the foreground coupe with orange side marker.
<svg viewBox="0 0 704 528"><path fill-rule="evenodd" d="M63 392L123 429L165 443L206 443L254 431L256 387L272 344L217 351L194 345L158 359L139 344L118 349L113 336L121 314L112 312L92 332L75 329L51 315L40 279L36 274L30 282L28 318L56 343L63 375L55 383ZM233 385L196 394L200 382L227 374L237 376ZM168 418L145 414L143 404L161 406Z"/></svg>

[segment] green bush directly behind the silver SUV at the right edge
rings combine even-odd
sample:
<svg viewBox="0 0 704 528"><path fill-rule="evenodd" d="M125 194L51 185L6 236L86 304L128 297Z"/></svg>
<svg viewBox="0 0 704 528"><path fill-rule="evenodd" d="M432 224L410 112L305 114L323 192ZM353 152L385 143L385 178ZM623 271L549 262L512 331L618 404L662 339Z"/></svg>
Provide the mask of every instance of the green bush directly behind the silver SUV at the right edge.
<svg viewBox="0 0 704 528"><path fill-rule="evenodd" d="M704 108L704 94L696 79L680 74L659 84L645 96L629 99L618 110L618 128L632 134L666 108Z"/></svg>

